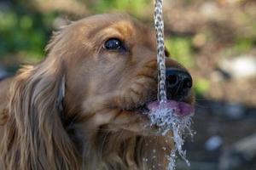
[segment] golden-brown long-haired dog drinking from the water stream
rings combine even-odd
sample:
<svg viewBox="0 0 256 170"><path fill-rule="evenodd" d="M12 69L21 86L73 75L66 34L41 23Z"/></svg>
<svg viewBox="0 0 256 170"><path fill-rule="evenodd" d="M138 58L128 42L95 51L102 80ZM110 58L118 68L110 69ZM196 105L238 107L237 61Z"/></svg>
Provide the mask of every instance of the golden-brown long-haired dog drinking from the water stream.
<svg viewBox="0 0 256 170"><path fill-rule="evenodd" d="M157 134L143 114L158 94L154 35L126 14L55 32L42 62L0 82L2 169L165 169L172 133ZM191 86L166 58L167 98L193 105Z"/></svg>

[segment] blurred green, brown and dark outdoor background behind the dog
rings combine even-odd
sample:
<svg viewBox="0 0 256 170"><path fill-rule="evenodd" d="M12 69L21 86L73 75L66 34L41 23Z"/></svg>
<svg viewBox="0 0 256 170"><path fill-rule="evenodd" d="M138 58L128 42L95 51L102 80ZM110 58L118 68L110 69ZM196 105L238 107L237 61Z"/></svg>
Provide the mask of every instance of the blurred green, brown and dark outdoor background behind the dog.
<svg viewBox="0 0 256 170"><path fill-rule="evenodd" d="M121 11L153 26L153 8L152 0L0 0L0 79L43 59L67 20ZM166 0L164 15L166 47L195 80L190 169L256 169L256 1Z"/></svg>

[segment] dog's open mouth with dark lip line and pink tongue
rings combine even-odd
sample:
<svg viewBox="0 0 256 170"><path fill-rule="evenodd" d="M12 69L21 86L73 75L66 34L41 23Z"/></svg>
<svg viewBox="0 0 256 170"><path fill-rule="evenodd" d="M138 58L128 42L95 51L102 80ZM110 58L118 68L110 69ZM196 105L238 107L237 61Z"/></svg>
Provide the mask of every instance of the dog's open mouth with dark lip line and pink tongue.
<svg viewBox="0 0 256 170"><path fill-rule="evenodd" d="M147 114L150 114L150 112L152 111L158 110L160 107L168 110L172 110L177 117L181 117L181 118L184 116L191 116L194 114L193 105L183 101L170 100L170 99L168 99L162 105L160 105L160 102L158 100L152 100L144 103L143 105L139 105L136 108L133 108L129 111L138 112L138 113L147 115Z"/></svg>

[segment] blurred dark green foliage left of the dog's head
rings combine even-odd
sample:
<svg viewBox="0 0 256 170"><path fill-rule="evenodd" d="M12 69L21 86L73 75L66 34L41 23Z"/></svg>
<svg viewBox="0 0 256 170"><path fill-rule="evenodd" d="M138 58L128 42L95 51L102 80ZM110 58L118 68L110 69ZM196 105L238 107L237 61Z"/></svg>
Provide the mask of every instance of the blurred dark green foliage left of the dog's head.
<svg viewBox="0 0 256 170"><path fill-rule="evenodd" d="M51 32L49 22L54 18L55 14L39 14L20 6L0 11L0 57L21 52L29 58L42 58Z"/></svg>

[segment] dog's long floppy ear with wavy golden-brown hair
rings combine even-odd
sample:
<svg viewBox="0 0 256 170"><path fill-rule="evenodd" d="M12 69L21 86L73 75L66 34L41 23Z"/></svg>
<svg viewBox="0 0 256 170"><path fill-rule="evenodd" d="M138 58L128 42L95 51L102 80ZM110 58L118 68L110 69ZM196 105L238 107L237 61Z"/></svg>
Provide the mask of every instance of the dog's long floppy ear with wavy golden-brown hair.
<svg viewBox="0 0 256 170"><path fill-rule="evenodd" d="M24 67L15 77L1 144L6 169L79 169L76 149L61 122L64 70L61 59L51 58Z"/></svg>

